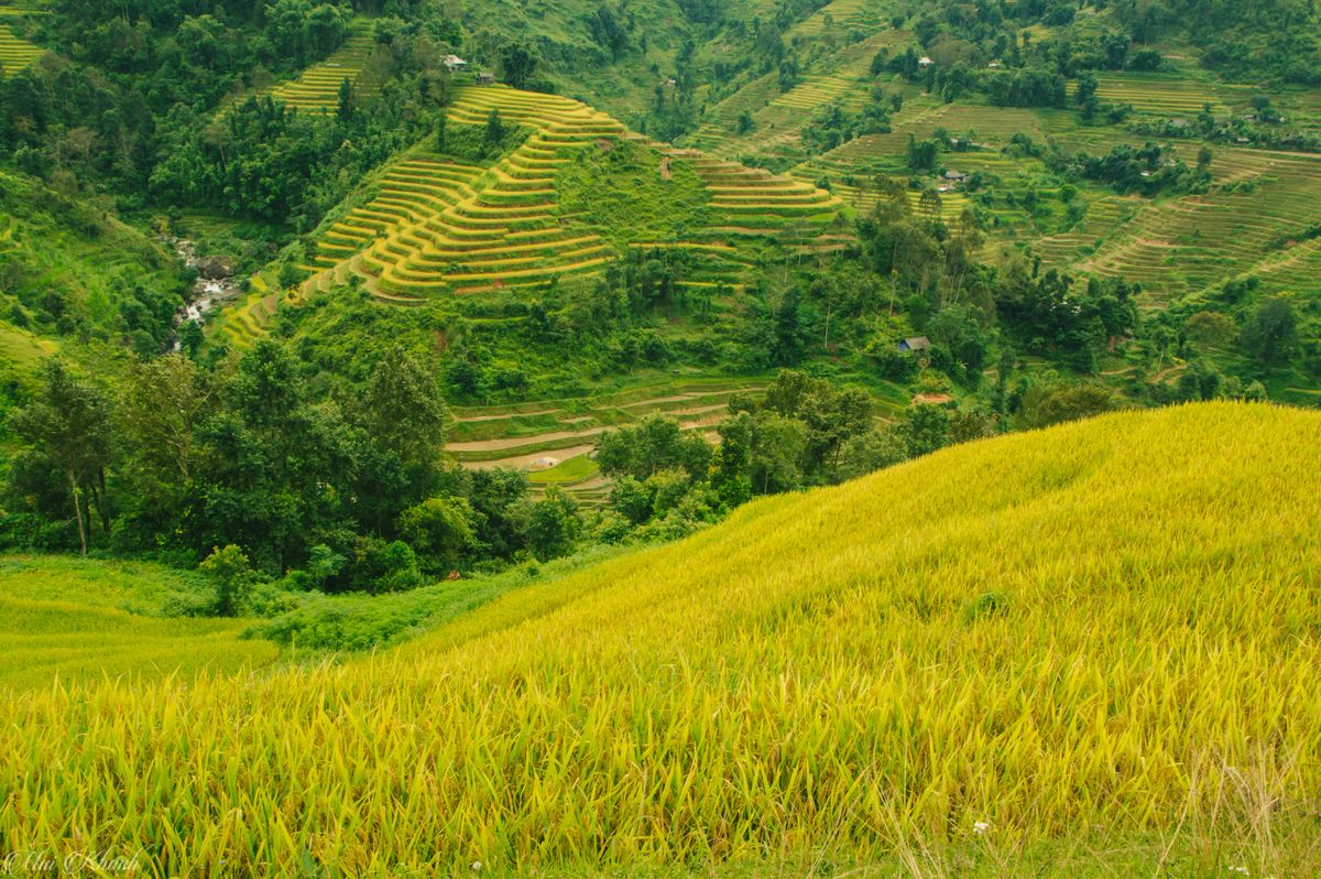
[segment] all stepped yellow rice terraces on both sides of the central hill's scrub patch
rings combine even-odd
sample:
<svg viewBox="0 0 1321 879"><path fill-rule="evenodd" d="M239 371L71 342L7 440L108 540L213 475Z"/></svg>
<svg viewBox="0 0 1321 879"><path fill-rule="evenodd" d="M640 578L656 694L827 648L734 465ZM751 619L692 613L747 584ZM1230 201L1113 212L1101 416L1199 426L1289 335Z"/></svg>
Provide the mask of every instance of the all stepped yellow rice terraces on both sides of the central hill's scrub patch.
<svg viewBox="0 0 1321 879"><path fill-rule="evenodd" d="M697 258L703 268L688 284L737 287L754 258L749 245L768 238L791 247L832 246L826 227L840 202L810 184L671 149L580 102L506 86L458 86L449 120L480 126L491 111L531 134L486 167L421 149L396 161L366 204L321 235L304 291L359 275L378 299L411 304L437 293L598 275L621 250L590 210L565 210L557 202L557 177L584 151L620 144L650 151L649 174L658 186L680 167L700 180L709 223L682 237L626 242Z"/></svg>

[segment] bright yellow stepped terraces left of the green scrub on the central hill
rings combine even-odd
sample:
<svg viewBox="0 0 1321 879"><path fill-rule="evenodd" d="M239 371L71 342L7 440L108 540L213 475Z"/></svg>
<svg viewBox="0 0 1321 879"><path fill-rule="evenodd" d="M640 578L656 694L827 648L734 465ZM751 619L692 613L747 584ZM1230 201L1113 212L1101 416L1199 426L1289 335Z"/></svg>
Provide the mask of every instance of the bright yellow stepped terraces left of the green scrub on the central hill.
<svg viewBox="0 0 1321 879"><path fill-rule="evenodd" d="M618 137L624 126L568 98L503 86L460 87L449 116L483 124L493 110L535 134L489 169L425 155L392 168L379 196L321 242L317 283L359 248L353 270L371 276L378 296L403 303L590 276L614 258L600 235L565 227L553 182L571 151Z"/></svg>

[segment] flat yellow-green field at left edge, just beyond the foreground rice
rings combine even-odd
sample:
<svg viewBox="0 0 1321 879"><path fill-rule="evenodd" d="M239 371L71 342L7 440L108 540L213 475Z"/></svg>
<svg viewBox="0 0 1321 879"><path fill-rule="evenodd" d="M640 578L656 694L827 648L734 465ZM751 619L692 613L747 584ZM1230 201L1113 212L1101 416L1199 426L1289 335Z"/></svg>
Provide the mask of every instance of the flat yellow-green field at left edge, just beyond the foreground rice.
<svg viewBox="0 0 1321 879"><path fill-rule="evenodd" d="M243 620L169 619L170 599L209 588L194 575L133 562L59 556L0 559L0 690L53 679L231 674L276 648L239 640Z"/></svg>

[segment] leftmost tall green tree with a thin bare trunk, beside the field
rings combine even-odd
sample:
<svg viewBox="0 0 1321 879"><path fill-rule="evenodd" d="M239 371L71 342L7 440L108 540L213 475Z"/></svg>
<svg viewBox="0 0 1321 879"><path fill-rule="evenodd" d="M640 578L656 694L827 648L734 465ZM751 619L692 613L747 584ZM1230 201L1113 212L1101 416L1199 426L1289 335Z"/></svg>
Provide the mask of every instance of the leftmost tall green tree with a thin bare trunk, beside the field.
<svg viewBox="0 0 1321 879"><path fill-rule="evenodd" d="M21 441L63 475L78 522L79 549L86 555L83 514L90 519L91 510L83 506L83 494L95 498L106 519L102 505L112 452L110 401L95 385L75 377L58 357L45 361L37 375L36 399L16 411L11 424Z"/></svg>

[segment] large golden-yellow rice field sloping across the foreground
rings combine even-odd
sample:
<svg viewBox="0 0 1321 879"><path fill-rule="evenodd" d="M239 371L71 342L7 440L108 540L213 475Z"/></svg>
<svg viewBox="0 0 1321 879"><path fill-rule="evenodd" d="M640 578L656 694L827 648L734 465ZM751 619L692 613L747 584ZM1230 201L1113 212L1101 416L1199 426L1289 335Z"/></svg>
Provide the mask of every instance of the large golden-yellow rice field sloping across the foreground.
<svg viewBox="0 0 1321 879"><path fill-rule="evenodd" d="M0 834L162 876L1318 875L1317 448L1312 412L1119 414L400 649L38 686Z"/></svg>

